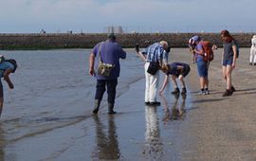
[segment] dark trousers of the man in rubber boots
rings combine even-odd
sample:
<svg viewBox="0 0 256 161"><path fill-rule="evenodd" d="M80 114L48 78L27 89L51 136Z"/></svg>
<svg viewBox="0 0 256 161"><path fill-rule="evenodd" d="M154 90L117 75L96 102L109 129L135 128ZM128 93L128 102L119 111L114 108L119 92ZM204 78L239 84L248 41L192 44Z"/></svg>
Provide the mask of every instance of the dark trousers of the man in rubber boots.
<svg viewBox="0 0 256 161"><path fill-rule="evenodd" d="M115 80L97 80L95 99L101 100L107 87L107 101L108 103L115 103L116 88L118 79Z"/></svg>

